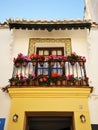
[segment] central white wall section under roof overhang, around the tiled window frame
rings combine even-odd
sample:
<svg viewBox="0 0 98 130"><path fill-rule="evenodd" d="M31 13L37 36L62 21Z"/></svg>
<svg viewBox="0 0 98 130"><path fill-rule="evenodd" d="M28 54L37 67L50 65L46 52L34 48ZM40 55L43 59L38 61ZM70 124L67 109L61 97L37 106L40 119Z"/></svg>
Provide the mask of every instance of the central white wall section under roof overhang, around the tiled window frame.
<svg viewBox="0 0 98 130"><path fill-rule="evenodd" d="M13 56L20 52L28 54L29 38L71 38L72 50L78 54L87 55L86 33L86 30L53 30L52 32L47 30L14 30ZM44 44L41 44L41 46L44 46ZM81 50L79 50L80 47L82 48Z"/></svg>

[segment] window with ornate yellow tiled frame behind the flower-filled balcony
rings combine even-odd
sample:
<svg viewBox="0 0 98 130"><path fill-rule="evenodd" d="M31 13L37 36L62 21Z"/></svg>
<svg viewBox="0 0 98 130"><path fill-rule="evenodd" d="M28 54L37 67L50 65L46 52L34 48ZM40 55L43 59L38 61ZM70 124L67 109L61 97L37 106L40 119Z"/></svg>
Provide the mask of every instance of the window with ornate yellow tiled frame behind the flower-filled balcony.
<svg viewBox="0 0 98 130"><path fill-rule="evenodd" d="M43 46L43 47L42 47ZM71 54L71 39L46 39L46 38L32 38L29 43L28 55L37 53L44 56L49 55L70 55ZM43 66L38 63L35 68L36 74L47 74L52 73L64 74L64 68L60 66L58 62L54 66L50 67L47 62L44 62Z"/></svg>

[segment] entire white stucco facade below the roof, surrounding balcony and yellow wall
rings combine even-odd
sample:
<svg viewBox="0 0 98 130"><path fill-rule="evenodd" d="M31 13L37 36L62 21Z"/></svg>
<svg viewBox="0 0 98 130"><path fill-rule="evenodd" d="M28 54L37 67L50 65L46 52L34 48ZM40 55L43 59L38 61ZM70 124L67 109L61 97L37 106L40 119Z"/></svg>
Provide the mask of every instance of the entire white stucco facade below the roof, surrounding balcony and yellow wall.
<svg viewBox="0 0 98 130"><path fill-rule="evenodd" d="M1 87L8 84L8 79L12 75L13 71L13 57L17 56L18 53L28 54L29 40L30 38L71 38L72 52L76 52L79 55L86 57L86 71L90 79L90 86L94 86L94 92L89 97L89 110L91 124L97 124L97 73L95 64L95 55L97 55L97 48L94 44L97 41L97 31L94 28L89 29L71 29L71 30L53 30L51 32L47 30L22 30L3 28L0 29L0 42L2 43L2 63L0 70L2 73ZM6 38L5 38L6 37ZM37 43L35 47L45 47L45 43ZM62 43L47 44L47 46L64 46ZM80 49L81 48L81 49ZM94 50L94 51L93 51ZM92 53L94 52L94 53ZM6 54L6 55L5 55ZM6 63L6 64L5 64ZM9 67L8 67L9 66ZM95 67L96 66L96 67ZM92 69L91 69L92 68ZM10 115L11 98L8 93L0 91L0 96L3 102L0 103L1 112L0 116L6 118L5 130L8 129L8 120ZM96 104L96 105L95 105ZM95 107L94 107L95 106Z"/></svg>

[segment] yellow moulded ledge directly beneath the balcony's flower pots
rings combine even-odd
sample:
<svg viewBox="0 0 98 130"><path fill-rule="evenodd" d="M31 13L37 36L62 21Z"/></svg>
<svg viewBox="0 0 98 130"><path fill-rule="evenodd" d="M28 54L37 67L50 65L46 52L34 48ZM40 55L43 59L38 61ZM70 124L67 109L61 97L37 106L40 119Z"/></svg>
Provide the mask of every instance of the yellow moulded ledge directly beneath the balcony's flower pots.
<svg viewBox="0 0 98 130"><path fill-rule="evenodd" d="M11 87L11 98L88 98L92 87Z"/></svg>

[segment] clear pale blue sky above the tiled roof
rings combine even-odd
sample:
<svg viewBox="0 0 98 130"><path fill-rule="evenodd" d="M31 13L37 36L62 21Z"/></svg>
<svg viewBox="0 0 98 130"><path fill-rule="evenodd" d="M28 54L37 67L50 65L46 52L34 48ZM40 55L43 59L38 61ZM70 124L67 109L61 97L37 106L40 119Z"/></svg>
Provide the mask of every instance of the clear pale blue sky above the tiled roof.
<svg viewBox="0 0 98 130"><path fill-rule="evenodd" d="M84 0L0 0L0 22L9 18L83 19Z"/></svg>

